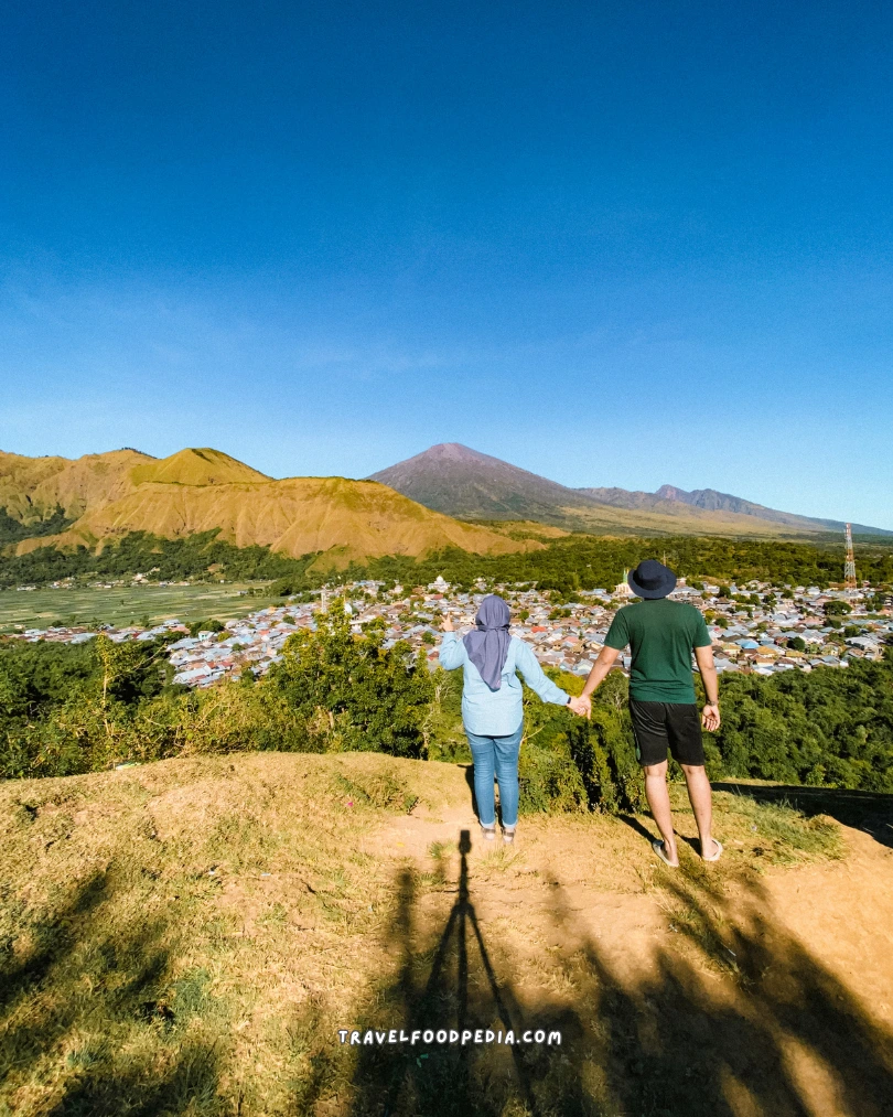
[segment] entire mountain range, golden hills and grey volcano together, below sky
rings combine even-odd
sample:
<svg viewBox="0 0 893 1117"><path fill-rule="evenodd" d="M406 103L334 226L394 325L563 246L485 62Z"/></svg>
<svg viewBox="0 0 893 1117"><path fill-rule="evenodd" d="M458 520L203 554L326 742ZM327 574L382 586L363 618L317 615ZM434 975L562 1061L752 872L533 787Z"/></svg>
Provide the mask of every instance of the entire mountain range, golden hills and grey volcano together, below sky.
<svg viewBox="0 0 893 1117"><path fill-rule="evenodd" d="M366 480L275 480L210 448L162 459L133 449L76 460L0 451L0 550L7 554L96 550L128 532L177 538L217 528L237 546L259 544L296 557L319 552L324 569L445 547L529 551L568 531L815 538L843 526L713 489L568 488L455 442Z"/></svg>

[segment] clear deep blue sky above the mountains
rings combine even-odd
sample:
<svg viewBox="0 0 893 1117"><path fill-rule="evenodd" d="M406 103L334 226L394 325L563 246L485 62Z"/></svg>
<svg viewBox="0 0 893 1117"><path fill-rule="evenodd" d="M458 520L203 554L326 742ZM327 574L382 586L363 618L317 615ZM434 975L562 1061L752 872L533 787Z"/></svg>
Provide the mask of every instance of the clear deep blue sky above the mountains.
<svg viewBox="0 0 893 1117"><path fill-rule="evenodd" d="M893 9L8 8L0 448L893 528Z"/></svg>

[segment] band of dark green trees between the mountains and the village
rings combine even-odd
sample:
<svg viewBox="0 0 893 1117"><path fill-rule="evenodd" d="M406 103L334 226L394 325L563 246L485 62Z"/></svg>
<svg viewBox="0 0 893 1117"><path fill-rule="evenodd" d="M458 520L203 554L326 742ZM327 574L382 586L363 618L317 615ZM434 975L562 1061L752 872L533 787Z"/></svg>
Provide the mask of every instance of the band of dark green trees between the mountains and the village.
<svg viewBox="0 0 893 1117"><path fill-rule="evenodd" d="M0 588L46 584L65 577L122 579L136 572L154 571L160 581L275 579L272 592L287 594L316 589L324 583L367 577L426 585L438 574L443 574L455 585L471 586L482 577L491 584L536 582L540 589L569 594L599 586L611 589L621 581L625 569L633 569L643 558L664 555L670 565L689 580L747 582L757 579L791 586L827 586L839 580L843 564L843 547L835 544L698 536L655 541L570 535L540 541L536 546L532 541L522 540L513 545L530 550L521 553L480 555L449 547L417 558L387 554L361 562L345 560L340 570L330 565L332 552L309 552L291 558L269 546L237 547L221 540L218 529L174 540L128 532L107 540L98 551L83 544L60 550L48 546L46 540L32 542L35 548L23 554L0 553ZM893 583L893 546L890 544L857 544L856 562L860 576L872 585Z"/></svg>

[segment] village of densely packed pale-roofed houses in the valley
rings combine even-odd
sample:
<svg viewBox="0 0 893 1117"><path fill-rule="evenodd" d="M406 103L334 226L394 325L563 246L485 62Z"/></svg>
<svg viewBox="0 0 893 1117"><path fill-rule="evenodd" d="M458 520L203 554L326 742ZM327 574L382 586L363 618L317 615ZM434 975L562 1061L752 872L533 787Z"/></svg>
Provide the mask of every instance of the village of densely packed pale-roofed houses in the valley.
<svg viewBox="0 0 893 1117"><path fill-rule="evenodd" d="M488 585L483 581L473 592L461 592L442 576L411 591L363 581L323 589L309 601L286 599L281 605L227 620L221 631L191 633L188 626L171 619L151 628L32 628L12 638L83 643L100 631L115 642L182 633L167 647L171 681L204 688L239 678L248 670L256 677L263 675L281 658L294 632L314 629L319 611L340 602L357 636L371 622L383 621L385 647L404 640L434 670L443 615L448 614L459 631L471 628L487 592L507 598L512 610L512 633L535 647L544 667L580 676L592 668L616 610L632 599L625 580L611 591L580 590L572 594L573 600L559 602L555 594L536 588ZM680 579L671 596L703 613L720 672L769 676L816 667L845 668L856 659L881 659L884 643L893 638L893 602L867 585L861 590L823 591L818 586L772 586L764 582L688 585ZM626 671L628 655L620 662Z"/></svg>

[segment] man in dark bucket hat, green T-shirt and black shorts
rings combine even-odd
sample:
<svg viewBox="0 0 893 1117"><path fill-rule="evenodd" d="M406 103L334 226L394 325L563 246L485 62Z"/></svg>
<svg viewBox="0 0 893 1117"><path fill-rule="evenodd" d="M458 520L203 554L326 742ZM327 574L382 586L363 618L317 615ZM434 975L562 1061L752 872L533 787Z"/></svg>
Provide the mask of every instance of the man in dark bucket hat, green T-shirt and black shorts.
<svg viewBox="0 0 893 1117"><path fill-rule="evenodd" d="M589 696L628 645L632 652L630 716L636 758L644 770L645 795L663 839L652 842L654 852L672 868L679 866L666 787L669 746L685 774L701 836L701 857L705 861L718 861L722 846L710 833L712 802L701 741L701 725L710 732L719 728L719 690L710 634L703 617L693 605L666 600L675 588L676 576L663 563L646 558L627 581L642 601L626 605L615 615L580 697L592 712ZM700 718L692 680L692 651L707 693L707 705Z"/></svg>

